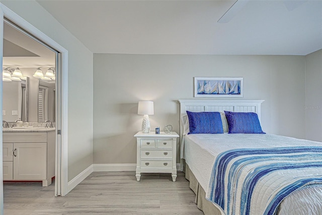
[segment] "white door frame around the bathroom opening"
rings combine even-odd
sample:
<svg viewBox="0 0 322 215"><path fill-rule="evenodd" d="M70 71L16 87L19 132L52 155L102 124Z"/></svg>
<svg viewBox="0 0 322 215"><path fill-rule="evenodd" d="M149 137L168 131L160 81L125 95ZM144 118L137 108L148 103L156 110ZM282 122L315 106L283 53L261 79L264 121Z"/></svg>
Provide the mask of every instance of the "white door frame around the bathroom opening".
<svg viewBox="0 0 322 215"><path fill-rule="evenodd" d="M41 31L30 25L27 21L19 17L13 11L0 3L0 66L3 68L3 39L4 29L3 23L5 19L14 23L21 29L24 29L32 37L37 38L42 43L48 45L57 51L56 57L56 153L55 153L55 196L65 195L68 192L68 161L67 161L67 62L68 52L62 46L57 44L51 38L43 34ZM3 87L3 82L0 81L0 87ZM3 93L0 93L0 108L2 111ZM0 115L2 118L2 115ZM0 191L3 194L3 135L0 132ZM3 195L0 195L0 213L3 213Z"/></svg>

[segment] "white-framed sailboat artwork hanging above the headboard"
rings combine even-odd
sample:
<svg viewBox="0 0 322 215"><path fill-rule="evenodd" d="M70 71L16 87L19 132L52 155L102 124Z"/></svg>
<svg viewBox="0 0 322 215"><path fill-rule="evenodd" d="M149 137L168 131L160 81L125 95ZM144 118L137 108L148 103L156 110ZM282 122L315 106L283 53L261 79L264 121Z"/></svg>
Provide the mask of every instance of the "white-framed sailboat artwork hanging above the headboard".
<svg viewBox="0 0 322 215"><path fill-rule="evenodd" d="M243 97L244 78L195 77L195 97Z"/></svg>

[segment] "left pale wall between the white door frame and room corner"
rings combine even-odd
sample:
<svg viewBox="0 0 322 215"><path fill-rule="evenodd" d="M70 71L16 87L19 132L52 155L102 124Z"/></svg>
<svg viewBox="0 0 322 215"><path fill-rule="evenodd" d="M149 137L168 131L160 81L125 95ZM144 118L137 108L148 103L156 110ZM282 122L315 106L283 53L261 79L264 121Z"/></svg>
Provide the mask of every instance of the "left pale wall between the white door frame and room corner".
<svg viewBox="0 0 322 215"><path fill-rule="evenodd" d="M68 180L93 163L93 53L36 1L1 1L68 50Z"/></svg>

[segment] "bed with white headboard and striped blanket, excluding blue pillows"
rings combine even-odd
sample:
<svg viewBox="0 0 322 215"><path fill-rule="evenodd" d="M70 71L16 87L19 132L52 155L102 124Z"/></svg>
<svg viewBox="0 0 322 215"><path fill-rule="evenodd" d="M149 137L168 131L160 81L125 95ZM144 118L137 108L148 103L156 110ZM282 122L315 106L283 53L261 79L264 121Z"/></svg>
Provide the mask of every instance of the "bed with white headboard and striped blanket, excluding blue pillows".
<svg viewBox="0 0 322 215"><path fill-rule="evenodd" d="M227 134L224 111L255 113L260 122L263 100L179 102L181 170L206 215L322 214L320 142L271 134ZM223 134L187 135L187 111L220 112Z"/></svg>

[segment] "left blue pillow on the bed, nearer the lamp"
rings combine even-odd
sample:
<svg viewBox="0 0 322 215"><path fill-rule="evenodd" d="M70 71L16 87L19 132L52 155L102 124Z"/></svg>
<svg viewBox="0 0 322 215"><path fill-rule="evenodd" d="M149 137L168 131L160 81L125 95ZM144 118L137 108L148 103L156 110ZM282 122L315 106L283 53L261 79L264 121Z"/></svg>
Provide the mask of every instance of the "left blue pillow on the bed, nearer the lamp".
<svg viewBox="0 0 322 215"><path fill-rule="evenodd" d="M223 134L219 112L190 112L188 134Z"/></svg>

